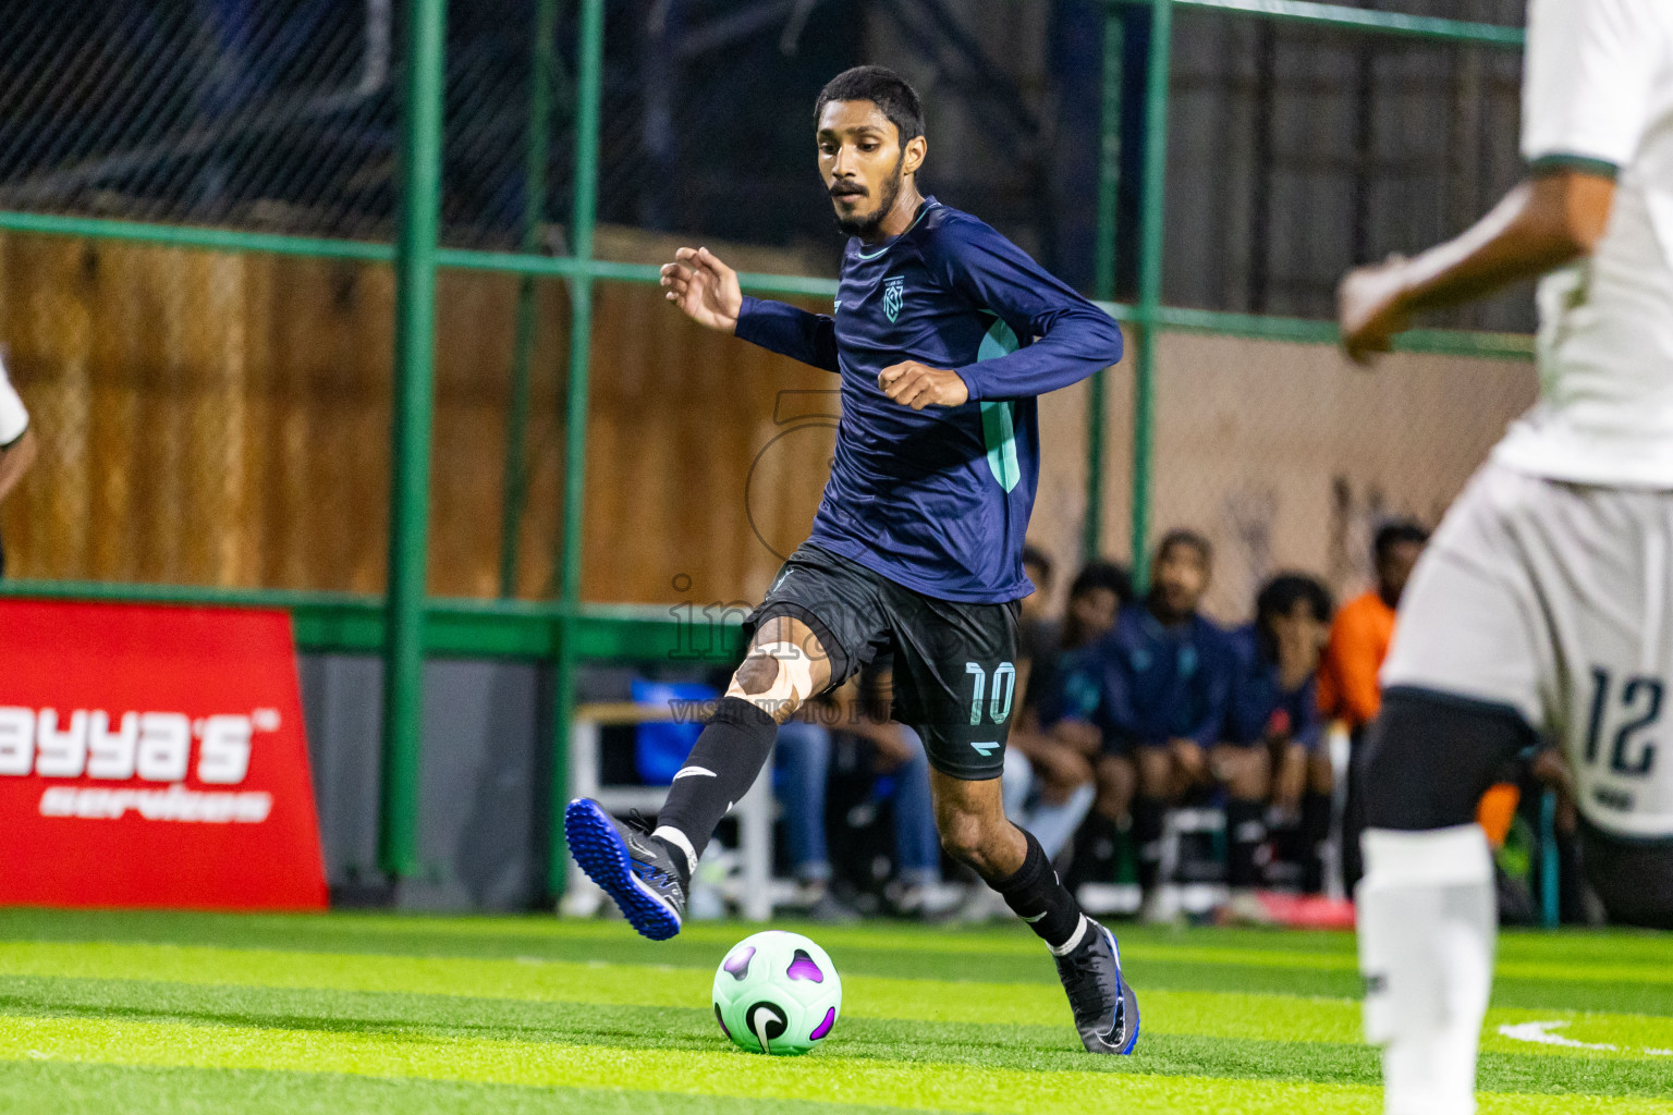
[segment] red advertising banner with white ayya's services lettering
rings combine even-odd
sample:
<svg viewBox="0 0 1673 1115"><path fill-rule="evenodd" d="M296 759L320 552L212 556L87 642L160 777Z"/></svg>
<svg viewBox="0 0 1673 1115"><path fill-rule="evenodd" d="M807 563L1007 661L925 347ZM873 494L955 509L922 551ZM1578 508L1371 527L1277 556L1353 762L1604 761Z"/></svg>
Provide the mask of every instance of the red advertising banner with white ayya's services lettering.
<svg viewBox="0 0 1673 1115"><path fill-rule="evenodd" d="M0 600L0 904L323 909L289 617Z"/></svg>

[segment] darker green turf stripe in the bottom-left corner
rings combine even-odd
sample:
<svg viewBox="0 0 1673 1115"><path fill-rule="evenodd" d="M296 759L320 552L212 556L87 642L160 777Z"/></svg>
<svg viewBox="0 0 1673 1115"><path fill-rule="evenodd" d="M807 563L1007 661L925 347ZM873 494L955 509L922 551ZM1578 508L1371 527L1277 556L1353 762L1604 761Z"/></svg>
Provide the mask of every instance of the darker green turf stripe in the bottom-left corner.
<svg viewBox="0 0 1673 1115"><path fill-rule="evenodd" d="M8 1062L0 1112L52 1115L883 1115L898 1108L800 1100L669 1095L611 1088L298 1073L258 1068L149 1068L74 1062Z"/></svg>

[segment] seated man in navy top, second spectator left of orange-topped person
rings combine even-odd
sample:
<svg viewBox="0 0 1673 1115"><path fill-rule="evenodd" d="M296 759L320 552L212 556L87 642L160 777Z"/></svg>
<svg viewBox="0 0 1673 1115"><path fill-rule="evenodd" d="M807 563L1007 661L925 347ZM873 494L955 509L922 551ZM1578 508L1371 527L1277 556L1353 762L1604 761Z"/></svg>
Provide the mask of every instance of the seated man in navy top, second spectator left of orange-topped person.
<svg viewBox="0 0 1673 1115"><path fill-rule="evenodd" d="M1198 614L1211 560L1201 535L1168 533L1156 548L1146 600L1121 608L1108 635L1067 655L1057 682L1052 719L1099 731L1099 797L1114 807L1121 807L1121 796L1131 799L1139 886L1148 899L1154 898L1169 806L1216 784L1228 789L1235 888L1255 884L1255 853L1266 839L1265 752L1221 742L1231 647L1226 634Z"/></svg>

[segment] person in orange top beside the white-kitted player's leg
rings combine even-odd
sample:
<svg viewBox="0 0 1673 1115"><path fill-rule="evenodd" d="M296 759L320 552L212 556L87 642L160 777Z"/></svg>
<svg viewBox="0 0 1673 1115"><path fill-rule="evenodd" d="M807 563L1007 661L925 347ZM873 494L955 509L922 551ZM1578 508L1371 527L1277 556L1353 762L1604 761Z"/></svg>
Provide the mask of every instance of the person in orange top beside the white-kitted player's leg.
<svg viewBox="0 0 1673 1115"><path fill-rule="evenodd" d="M1352 894L1362 874L1358 754L1365 727L1382 707L1377 674L1394 640L1394 615L1429 532L1414 522L1387 523L1372 543L1377 585L1342 605L1330 625L1330 642L1318 664L1318 707L1348 731L1348 799L1342 817L1342 886Z"/></svg>

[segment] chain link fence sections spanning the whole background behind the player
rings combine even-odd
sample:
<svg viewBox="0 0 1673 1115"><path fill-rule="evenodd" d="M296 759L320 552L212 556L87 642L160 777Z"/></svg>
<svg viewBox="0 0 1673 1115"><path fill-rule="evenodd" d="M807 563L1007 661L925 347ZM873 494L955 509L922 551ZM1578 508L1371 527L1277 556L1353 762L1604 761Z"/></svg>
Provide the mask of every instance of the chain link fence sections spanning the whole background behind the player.
<svg viewBox="0 0 1673 1115"><path fill-rule="evenodd" d="M1061 22L1072 7L1019 12ZM1384 7L1521 17L1519 0ZM370 241L386 256L403 8L18 0L0 43L0 211ZM887 53L944 129L929 186L1042 257L1071 259L1059 241L1092 182L1054 179L1027 214L1017 184L1079 165L1067 154L1096 112L1066 112L1062 90L1084 82L1042 62L1069 57L1051 47L1067 33L1059 23L1012 37L1009 53L999 23L980 5L922 0L609 5L599 257L652 264L703 237L746 271L831 274L840 246L815 179L813 97L833 72ZM1143 23L1124 27L1131 94ZM443 246L572 249L577 35L570 3L453 5ZM1174 42L1169 304L1328 316L1343 267L1462 227L1517 174L1514 50L1193 10ZM1143 139L1141 109L1131 97L1121 109L1124 150ZM984 119L1027 144L972 139ZM1129 171L1119 267L1141 201ZM1512 294L1449 321L1522 329L1529 313ZM0 343L43 441L5 508L12 573L381 592L391 321L390 267L350 249L0 232ZM442 276L437 595L554 590L569 321L567 279ZM825 478L826 435L781 453L803 413L785 410L785 393L826 391L828 378L701 334L644 283L597 286L592 363L584 597L758 593ZM1514 361L1399 356L1362 374L1325 346L1184 333L1163 334L1156 384L1153 535L1193 525L1216 540L1223 619L1245 615L1278 568L1352 588L1372 523L1432 520L1532 389ZM1104 548L1126 557L1129 366L1108 398ZM1076 388L1044 406L1036 535L1066 567L1086 513L1086 400ZM783 500L758 505L760 476Z"/></svg>

